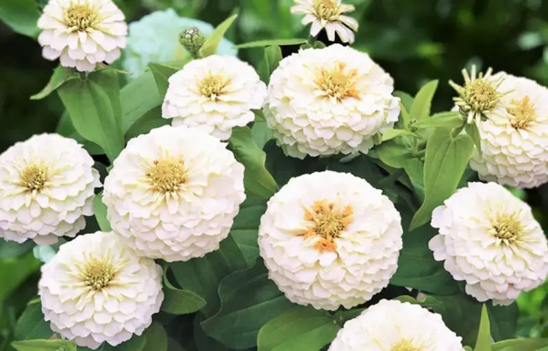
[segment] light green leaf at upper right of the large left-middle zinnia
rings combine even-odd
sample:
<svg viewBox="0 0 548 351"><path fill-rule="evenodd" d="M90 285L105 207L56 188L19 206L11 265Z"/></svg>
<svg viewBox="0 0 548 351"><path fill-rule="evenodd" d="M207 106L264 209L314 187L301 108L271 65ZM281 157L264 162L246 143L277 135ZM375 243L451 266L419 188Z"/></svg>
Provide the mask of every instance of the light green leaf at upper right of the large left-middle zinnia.
<svg viewBox="0 0 548 351"><path fill-rule="evenodd" d="M264 166L266 154L257 146L248 127L232 129L229 147L236 160L245 166L244 185L249 194L270 198L278 191L276 181Z"/></svg>

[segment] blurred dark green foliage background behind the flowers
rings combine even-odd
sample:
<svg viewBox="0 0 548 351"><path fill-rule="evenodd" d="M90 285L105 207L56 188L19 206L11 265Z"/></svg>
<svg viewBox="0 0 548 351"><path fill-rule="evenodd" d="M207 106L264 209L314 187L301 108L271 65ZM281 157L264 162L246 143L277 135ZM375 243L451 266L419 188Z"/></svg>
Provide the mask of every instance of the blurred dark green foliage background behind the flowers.
<svg viewBox="0 0 548 351"><path fill-rule="evenodd" d="M4 0L1 0L4 1ZM0 8L1 8L0 1ZM40 3L47 1L40 0ZM154 10L217 25L234 8L238 23L229 35L236 43L271 38L306 38L308 28L290 14L292 0L119 0L128 21ZM449 109L449 79L462 81L460 70L476 64L536 79L548 86L548 1L542 0L347 0L356 5L360 30L354 47L368 52L395 79L397 90L416 93L431 79L440 80L434 111ZM177 43L174 43L177 44ZM62 114L55 94L42 101L29 96L47 83L55 62L43 60L36 41L0 23L0 152L34 133L54 131ZM261 49L240 50L256 64ZM548 186L524 196L548 229ZM0 350L18 314L36 294L38 261L30 246L0 242ZM14 249L20 250L15 252ZM519 334L548 337L546 289L521 296Z"/></svg>

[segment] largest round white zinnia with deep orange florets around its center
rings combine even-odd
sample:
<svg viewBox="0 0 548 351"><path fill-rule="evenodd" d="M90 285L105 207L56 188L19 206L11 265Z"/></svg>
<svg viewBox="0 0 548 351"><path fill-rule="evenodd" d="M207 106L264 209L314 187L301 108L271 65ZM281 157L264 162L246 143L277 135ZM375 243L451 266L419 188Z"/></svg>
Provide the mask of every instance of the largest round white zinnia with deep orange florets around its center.
<svg viewBox="0 0 548 351"><path fill-rule="evenodd" d="M290 301L349 309L388 285L402 234L399 213L381 190L325 171L291 179L269 200L259 248L269 278Z"/></svg>

